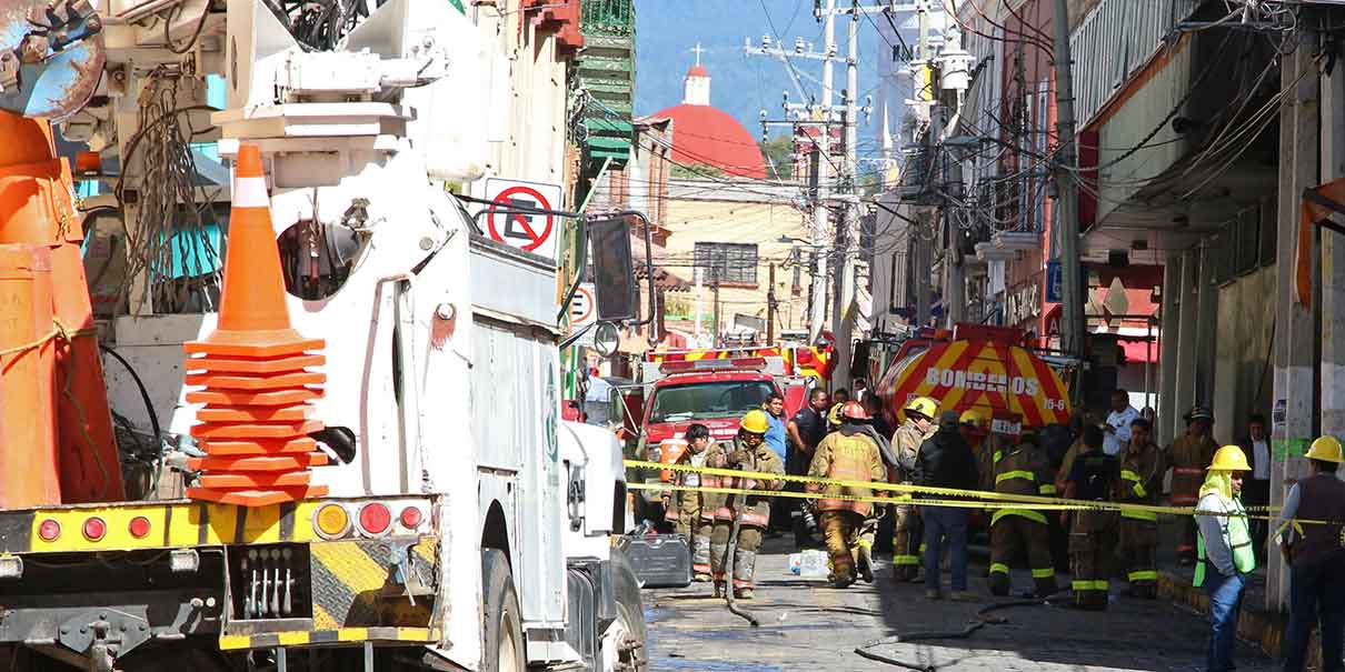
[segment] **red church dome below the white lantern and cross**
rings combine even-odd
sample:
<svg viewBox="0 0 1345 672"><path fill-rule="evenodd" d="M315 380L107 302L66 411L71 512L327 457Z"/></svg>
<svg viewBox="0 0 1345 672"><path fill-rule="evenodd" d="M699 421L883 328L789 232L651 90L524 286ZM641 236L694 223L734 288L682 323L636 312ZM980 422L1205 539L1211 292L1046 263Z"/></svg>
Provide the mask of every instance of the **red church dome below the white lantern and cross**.
<svg viewBox="0 0 1345 672"><path fill-rule="evenodd" d="M748 129L709 105L675 105L654 117L672 120L672 161L712 165L737 177L765 177L765 160Z"/></svg>

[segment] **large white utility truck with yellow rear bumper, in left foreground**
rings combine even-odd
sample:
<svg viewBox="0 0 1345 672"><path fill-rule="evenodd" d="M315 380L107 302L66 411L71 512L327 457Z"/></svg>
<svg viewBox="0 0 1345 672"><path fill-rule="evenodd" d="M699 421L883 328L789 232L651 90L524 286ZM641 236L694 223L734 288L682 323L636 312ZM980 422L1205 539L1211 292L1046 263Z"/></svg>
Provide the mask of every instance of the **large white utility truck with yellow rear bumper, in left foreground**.
<svg viewBox="0 0 1345 672"><path fill-rule="evenodd" d="M0 511L0 665L647 669L639 586L613 544L621 448L560 421L557 262L483 237L429 179L455 160L436 153L452 134L436 106L471 105L453 90L479 50L471 26L447 1L389 0L313 51L269 4L229 0L225 48L198 66L226 82L221 153L261 151L293 327L325 340L315 438L331 464L312 478L328 493ZM624 219L588 227L628 249ZM593 263L599 301L633 300L628 255ZM108 335L182 437L182 344L214 321L143 309ZM129 384L116 375L114 399Z"/></svg>

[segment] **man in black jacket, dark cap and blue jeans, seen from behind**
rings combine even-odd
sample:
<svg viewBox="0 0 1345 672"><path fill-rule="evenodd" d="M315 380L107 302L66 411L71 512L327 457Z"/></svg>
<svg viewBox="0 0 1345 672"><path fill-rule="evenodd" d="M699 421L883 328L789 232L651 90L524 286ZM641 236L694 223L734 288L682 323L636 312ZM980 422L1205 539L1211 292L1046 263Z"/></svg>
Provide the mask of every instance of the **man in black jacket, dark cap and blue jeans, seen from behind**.
<svg viewBox="0 0 1345 672"><path fill-rule="evenodd" d="M939 417L939 430L923 444L916 454L912 480L927 488L976 489L976 458L958 433L956 411ZM952 571L952 599L975 601L967 593L967 509L959 507L920 507L924 519L924 574L925 598L943 597L939 577L939 555L944 539L948 542L948 564Z"/></svg>

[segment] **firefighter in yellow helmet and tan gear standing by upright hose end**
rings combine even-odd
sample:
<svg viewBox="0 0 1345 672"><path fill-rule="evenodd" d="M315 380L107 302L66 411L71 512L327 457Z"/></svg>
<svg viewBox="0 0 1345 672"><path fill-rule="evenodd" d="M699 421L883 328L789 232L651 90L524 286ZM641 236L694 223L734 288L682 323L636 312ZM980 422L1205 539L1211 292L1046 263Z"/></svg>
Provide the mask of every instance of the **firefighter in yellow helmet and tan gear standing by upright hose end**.
<svg viewBox="0 0 1345 672"><path fill-rule="evenodd" d="M706 466L714 469L741 469L784 476L784 462L765 444L769 429L765 411L753 409L742 417L738 435L732 446L717 444L710 449ZM759 481L745 477L722 477L721 488L745 491L779 491L784 481ZM741 516L738 543L733 558L733 595L738 599L752 599L752 575L756 570L756 554L761 548L765 526L771 521L771 499L756 495L706 495L706 504L714 504L714 528L710 531L710 573L714 578L714 597L724 597L729 567L724 566L729 550L729 536L733 520ZM741 504L738 504L741 503Z"/></svg>

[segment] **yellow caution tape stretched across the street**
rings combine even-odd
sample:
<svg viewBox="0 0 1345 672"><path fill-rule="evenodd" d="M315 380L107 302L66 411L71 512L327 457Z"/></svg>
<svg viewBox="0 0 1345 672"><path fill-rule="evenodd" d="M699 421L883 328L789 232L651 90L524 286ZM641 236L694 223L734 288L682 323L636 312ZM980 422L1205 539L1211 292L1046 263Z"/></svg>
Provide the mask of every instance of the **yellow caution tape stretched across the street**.
<svg viewBox="0 0 1345 672"><path fill-rule="evenodd" d="M839 499L847 501L868 501L874 504L958 507L958 508L981 508L981 509L994 509L994 511L1030 509L1030 511L1103 511L1103 512L1131 512L1131 513L1147 512L1165 516L1225 516L1225 517L1247 517L1252 520L1275 520L1275 517L1270 513L1279 511L1278 507L1248 507L1247 513L1235 515L1235 513L1225 513L1221 511L1201 511L1194 507L1163 507L1157 504L1134 504L1122 501L1072 500L1065 497L1049 497L1037 495L1010 495L1005 492L993 492L993 491L964 491L959 488L936 488L928 485L912 485L907 482L857 481L845 478L824 478L815 476L780 474L769 472L748 472L741 469L691 466L686 464L650 462L644 460L625 460L624 464L629 469L701 473L707 476L752 478L757 481L784 481L784 482L803 482L803 484L819 484L819 485L838 485L842 488L863 488L870 491L885 491L902 495L858 497L847 495L830 495L830 493L823 495L820 492L808 493L808 492L757 491L757 489L748 491L738 488L672 485L664 482L627 484L628 489L643 489L643 491L709 492L721 495L751 495L753 497L787 497L787 499L804 499L804 500ZM913 497L913 495L925 495L927 497L916 499ZM1264 515L1251 513L1254 511L1255 512L1264 511L1266 513ZM1303 520L1303 519L1295 519L1295 521L1309 523L1309 524L1333 523L1330 520Z"/></svg>

